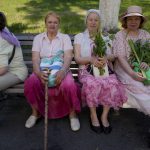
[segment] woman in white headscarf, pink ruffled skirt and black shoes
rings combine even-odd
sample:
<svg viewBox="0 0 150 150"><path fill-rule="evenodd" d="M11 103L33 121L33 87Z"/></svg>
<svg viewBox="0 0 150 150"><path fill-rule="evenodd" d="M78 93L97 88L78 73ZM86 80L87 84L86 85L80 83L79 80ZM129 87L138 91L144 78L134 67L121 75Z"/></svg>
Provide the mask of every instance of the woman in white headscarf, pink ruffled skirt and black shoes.
<svg viewBox="0 0 150 150"><path fill-rule="evenodd" d="M108 113L111 107L119 108L126 101L125 91L122 84L114 74L108 77L95 77L90 74L90 66L102 67L106 62L105 58L97 58L93 54L93 35L100 30L100 14L95 9L87 11L85 17L87 29L75 36L74 49L75 60L79 64L79 80L82 86L82 100L90 109L90 127L96 133L105 134L111 132L112 127L108 121ZM110 54L108 59L112 59ZM103 106L102 115L96 113L96 107ZM100 119L100 121L99 121ZM101 124L100 124L101 122Z"/></svg>

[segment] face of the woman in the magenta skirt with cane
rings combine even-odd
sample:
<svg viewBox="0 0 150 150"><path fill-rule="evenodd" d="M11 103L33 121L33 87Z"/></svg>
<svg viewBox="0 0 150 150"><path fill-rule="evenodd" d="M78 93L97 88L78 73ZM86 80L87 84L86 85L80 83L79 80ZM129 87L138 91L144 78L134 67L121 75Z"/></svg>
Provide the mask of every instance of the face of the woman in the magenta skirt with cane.
<svg viewBox="0 0 150 150"><path fill-rule="evenodd" d="M47 32L57 33L59 29L59 20L55 16L48 16L45 22Z"/></svg>

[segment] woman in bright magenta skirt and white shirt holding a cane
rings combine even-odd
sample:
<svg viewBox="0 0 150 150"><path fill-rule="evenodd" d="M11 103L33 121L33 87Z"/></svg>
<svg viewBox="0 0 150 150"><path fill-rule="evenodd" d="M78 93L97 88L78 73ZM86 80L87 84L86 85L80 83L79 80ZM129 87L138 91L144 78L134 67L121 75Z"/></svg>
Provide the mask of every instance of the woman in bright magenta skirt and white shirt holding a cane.
<svg viewBox="0 0 150 150"><path fill-rule="evenodd" d="M74 82L69 66L72 61L71 40L68 35L58 32L60 17L50 12L45 17L47 31L37 35L33 41L32 61L33 74L25 82L25 96L32 107L32 114L25 123L31 128L37 119L44 116L44 83L48 74L41 71L42 58L50 58L58 51L64 51L62 68L56 74L56 87L48 89L48 118L55 119L69 115L71 129L80 128L76 112L80 111L80 102L77 96L77 86Z"/></svg>

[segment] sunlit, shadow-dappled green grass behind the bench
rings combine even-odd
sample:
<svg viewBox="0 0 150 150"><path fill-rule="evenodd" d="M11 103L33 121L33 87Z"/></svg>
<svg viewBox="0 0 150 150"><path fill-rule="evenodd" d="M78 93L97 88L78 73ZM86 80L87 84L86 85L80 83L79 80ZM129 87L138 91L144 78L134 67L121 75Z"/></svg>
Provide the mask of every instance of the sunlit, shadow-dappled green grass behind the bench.
<svg viewBox="0 0 150 150"><path fill-rule="evenodd" d="M61 31L76 34L84 30L84 16L90 8L98 9L99 0L0 0L0 8L14 33L40 33L45 30L44 16L55 11L61 16ZM140 5L147 16L145 29L150 32L150 0L122 0L120 13L129 5Z"/></svg>

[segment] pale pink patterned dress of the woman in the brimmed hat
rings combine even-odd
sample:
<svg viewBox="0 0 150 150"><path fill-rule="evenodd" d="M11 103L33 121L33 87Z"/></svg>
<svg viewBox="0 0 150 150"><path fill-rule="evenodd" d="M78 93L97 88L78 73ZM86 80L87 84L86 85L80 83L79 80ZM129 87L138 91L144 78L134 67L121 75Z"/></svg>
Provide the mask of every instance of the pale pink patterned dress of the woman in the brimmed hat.
<svg viewBox="0 0 150 150"><path fill-rule="evenodd" d="M116 57L126 57L127 60L130 56L130 47L127 43L128 39L150 39L150 34L144 30L139 30L138 37L126 36L125 30L119 31L115 40L113 41L113 53ZM127 104L132 108L150 115L150 86L144 86L142 82L135 81L129 76L122 68L118 60L114 66L115 73L119 80L125 85L126 93L128 96Z"/></svg>

